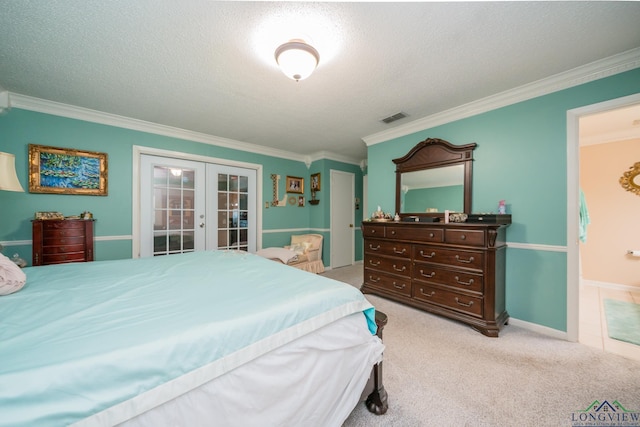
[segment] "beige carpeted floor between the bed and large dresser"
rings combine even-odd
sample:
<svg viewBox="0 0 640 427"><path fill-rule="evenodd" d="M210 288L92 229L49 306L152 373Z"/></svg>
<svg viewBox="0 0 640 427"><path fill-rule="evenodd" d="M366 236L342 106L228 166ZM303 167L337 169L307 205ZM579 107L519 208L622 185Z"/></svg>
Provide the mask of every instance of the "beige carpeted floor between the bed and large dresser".
<svg viewBox="0 0 640 427"><path fill-rule="evenodd" d="M359 287L362 265L325 275ZM343 427L572 426L594 401L618 401L640 416L640 362L512 325L488 338L459 322L367 298L389 317L383 365L389 410L376 416L359 404Z"/></svg>

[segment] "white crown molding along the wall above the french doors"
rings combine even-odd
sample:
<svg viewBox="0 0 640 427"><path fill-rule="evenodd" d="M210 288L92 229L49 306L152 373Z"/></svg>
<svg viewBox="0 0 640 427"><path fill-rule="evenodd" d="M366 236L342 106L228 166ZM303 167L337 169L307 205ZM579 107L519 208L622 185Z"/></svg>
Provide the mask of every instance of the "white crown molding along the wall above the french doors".
<svg viewBox="0 0 640 427"><path fill-rule="evenodd" d="M76 107L69 104L48 101L46 99L34 98L31 96L11 93L11 106L23 110L35 111L38 113L51 114L54 116L67 117L71 119L83 120L87 122L100 123L108 126L115 126L124 129L131 129L140 132L153 133L172 138L186 139L189 141L201 142L218 147L230 148L233 150L247 151L251 153L263 154L265 156L278 157L282 159L306 162L308 156L291 153L290 151L278 150L261 145L250 144L248 142L236 141L228 138L208 135L200 132L193 132L186 129L160 125L146 122L144 120L132 119L101 111L90 110L88 108Z"/></svg>

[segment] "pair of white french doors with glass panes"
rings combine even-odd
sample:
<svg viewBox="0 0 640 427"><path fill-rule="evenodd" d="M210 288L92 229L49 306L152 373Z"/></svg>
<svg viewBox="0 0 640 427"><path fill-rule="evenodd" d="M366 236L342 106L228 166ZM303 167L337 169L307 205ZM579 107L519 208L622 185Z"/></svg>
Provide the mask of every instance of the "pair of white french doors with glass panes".
<svg viewBox="0 0 640 427"><path fill-rule="evenodd" d="M140 256L255 252L256 171L140 156Z"/></svg>

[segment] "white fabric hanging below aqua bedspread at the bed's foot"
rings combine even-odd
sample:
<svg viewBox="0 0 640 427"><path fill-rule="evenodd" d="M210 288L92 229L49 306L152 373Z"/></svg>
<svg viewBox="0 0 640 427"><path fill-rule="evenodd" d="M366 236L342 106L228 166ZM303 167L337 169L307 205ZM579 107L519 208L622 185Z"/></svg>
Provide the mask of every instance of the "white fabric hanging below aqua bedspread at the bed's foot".
<svg viewBox="0 0 640 427"><path fill-rule="evenodd" d="M339 427L383 349L352 314L121 425Z"/></svg>

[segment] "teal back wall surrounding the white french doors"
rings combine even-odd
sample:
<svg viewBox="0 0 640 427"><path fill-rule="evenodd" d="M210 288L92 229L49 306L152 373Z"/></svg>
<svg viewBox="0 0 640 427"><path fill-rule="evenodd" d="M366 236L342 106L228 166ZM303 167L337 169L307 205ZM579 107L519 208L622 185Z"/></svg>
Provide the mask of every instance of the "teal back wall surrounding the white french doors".
<svg viewBox="0 0 640 427"><path fill-rule="evenodd" d="M107 153L108 196L29 193L28 144ZM353 164L319 160L314 162L311 168L307 168L302 161L13 108L0 116L0 151L15 154L18 179L27 191L0 191L0 241L9 244L4 250L5 255L18 253L22 258L31 261L30 221L34 212L59 211L64 215L77 215L88 210L97 219L96 260L130 258L134 145L261 164L263 200L259 201L258 207L262 209L263 247L284 246L289 243L291 234L305 232L319 232L325 236L328 243L328 177L331 169L354 172L356 197L362 198L362 172ZM318 197L324 200L319 205L312 206L307 203L305 207L298 207L287 204L284 207L265 209L265 202L271 202L273 198L271 174L281 176L280 199L284 195L287 175L303 177L304 196L309 200L309 176L315 172L322 173L322 190ZM360 246L359 252L356 252L356 260L362 259L361 240L361 236L356 236L356 247ZM329 255L329 245L325 244L323 260L326 265L330 260Z"/></svg>

